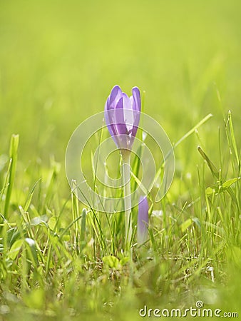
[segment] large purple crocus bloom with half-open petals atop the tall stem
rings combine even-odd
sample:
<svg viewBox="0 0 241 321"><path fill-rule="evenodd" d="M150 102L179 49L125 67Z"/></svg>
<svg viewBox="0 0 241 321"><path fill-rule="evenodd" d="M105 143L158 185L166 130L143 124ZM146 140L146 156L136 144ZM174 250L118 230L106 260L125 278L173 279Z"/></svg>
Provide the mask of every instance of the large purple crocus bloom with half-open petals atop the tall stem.
<svg viewBox="0 0 241 321"><path fill-rule="evenodd" d="M118 148L131 149L140 121L140 91L132 88L128 97L119 86L114 86L105 106L108 131Z"/></svg>

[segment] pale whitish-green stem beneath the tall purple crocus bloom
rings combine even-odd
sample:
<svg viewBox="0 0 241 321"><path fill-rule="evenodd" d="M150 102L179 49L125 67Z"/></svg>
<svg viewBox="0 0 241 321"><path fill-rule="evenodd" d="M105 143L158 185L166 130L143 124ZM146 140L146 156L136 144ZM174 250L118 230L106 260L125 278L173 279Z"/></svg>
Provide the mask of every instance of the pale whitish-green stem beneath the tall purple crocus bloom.
<svg viewBox="0 0 241 321"><path fill-rule="evenodd" d="M121 151L123 159L123 184L125 197L125 250L130 250L130 240L132 236L131 221L131 196L130 196L130 151Z"/></svg>

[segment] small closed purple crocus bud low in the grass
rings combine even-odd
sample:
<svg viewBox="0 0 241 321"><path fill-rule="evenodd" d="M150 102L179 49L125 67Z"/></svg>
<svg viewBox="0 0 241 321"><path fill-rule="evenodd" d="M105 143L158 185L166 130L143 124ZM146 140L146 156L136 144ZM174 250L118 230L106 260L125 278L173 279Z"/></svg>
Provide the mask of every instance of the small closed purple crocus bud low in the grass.
<svg viewBox="0 0 241 321"><path fill-rule="evenodd" d="M138 205L137 240L139 244L145 243L148 236L148 199L140 196Z"/></svg>

